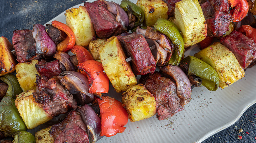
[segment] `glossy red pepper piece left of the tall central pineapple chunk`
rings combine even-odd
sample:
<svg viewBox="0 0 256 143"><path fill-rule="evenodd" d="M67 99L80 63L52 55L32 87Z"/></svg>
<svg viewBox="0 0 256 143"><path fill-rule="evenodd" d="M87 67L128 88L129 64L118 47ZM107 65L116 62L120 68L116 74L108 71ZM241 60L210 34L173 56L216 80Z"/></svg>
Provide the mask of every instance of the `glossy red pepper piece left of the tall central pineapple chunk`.
<svg viewBox="0 0 256 143"><path fill-rule="evenodd" d="M95 60L88 60L77 65L79 72L87 75L90 82L89 93L101 97L101 93L108 93L109 79L103 72L102 64Z"/></svg>

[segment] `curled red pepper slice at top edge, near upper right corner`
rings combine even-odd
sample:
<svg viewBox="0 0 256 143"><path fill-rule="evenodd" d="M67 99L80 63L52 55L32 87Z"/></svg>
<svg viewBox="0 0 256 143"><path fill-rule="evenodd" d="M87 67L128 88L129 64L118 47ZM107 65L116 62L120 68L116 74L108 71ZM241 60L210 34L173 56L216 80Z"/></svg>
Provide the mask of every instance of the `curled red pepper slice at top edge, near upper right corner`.
<svg viewBox="0 0 256 143"><path fill-rule="evenodd" d="M236 7L230 11L232 13L233 22L239 22L245 18L249 9L246 0L228 0L228 3L232 8Z"/></svg>

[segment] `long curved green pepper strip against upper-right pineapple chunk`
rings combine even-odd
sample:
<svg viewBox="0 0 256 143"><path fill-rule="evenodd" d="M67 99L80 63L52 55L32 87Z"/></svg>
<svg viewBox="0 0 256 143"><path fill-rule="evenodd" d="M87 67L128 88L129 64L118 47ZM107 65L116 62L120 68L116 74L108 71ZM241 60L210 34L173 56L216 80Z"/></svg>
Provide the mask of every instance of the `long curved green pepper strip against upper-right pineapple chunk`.
<svg viewBox="0 0 256 143"><path fill-rule="evenodd" d="M159 18L154 25L154 28L162 34L168 36L172 43L175 45L175 50L168 61L169 65L177 66L181 61L184 53L184 41L178 27L167 19Z"/></svg>

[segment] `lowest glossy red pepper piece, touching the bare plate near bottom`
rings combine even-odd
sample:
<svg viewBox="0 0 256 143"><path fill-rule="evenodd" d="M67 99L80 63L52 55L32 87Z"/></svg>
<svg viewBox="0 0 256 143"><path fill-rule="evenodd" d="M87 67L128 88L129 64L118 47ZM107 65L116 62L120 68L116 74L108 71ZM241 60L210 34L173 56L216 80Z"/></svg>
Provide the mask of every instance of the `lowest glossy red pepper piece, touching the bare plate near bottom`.
<svg viewBox="0 0 256 143"><path fill-rule="evenodd" d="M101 133L100 136L113 136L123 133L126 129L124 125L128 122L128 114L122 103L109 96L102 96L102 100L96 98L99 105Z"/></svg>

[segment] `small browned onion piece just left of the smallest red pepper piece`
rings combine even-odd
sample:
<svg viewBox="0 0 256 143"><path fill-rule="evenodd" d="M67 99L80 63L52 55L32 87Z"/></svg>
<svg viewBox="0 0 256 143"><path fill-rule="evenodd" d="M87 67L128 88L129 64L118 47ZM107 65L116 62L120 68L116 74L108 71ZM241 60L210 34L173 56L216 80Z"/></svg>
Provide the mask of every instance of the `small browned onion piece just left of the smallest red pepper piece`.
<svg viewBox="0 0 256 143"><path fill-rule="evenodd" d="M57 51L53 57L59 60L64 65L67 71L75 71L75 67L69 59L70 56L67 53Z"/></svg>

